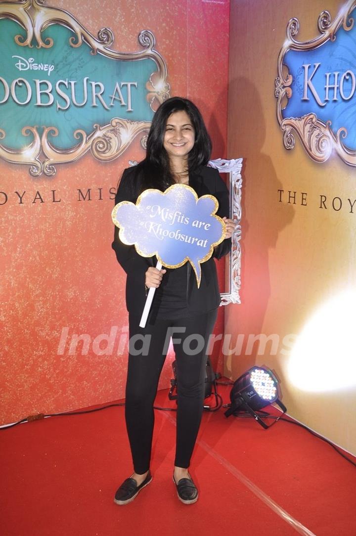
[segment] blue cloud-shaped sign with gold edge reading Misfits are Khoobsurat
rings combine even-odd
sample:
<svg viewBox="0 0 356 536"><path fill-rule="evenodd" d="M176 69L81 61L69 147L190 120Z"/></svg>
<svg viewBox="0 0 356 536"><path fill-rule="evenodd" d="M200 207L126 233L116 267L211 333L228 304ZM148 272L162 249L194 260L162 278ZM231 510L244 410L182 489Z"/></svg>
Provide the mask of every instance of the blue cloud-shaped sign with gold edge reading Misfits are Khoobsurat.
<svg viewBox="0 0 356 536"><path fill-rule="evenodd" d="M218 201L211 195L199 197L186 184L173 184L165 192L145 190L136 205L118 203L112 212L124 244L135 244L143 257L155 255L167 268L189 261L198 287L200 264L209 259L213 248L224 240L225 222L216 215Z"/></svg>

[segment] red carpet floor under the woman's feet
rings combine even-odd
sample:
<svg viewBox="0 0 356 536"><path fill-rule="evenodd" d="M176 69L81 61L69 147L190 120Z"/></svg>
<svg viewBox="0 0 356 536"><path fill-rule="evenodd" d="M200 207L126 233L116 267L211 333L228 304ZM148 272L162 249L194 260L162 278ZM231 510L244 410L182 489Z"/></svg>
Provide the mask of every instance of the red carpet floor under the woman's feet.
<svg viewBox="0 0 356 536"><path fill-rule="evenodd" d="M225 390L225 391L224 391ZM219 386L228 401L229 388ZM167 390L156 405L175 407ZM175 413L155 412L153 481L119 507L132 470L124 408L0 430L2 536L356 535L356 467L306 430L204 412L190 472L193 505L172 482Z"/></svg>

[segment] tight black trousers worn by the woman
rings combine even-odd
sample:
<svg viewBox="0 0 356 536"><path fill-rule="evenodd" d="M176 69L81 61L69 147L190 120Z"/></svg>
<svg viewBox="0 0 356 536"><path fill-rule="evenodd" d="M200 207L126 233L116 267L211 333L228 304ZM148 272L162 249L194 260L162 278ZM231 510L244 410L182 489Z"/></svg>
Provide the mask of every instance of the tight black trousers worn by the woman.
<svg viewBox="0 0 356 536"><path fill-rule="evenodd" d="M214 309L190 318L156 319L141 328L140 317L130 314L125 419L136 473L150 468L153 403L172 329L178 396L174 465L189 467L203 413L206 346L216 317Z"/></svg>

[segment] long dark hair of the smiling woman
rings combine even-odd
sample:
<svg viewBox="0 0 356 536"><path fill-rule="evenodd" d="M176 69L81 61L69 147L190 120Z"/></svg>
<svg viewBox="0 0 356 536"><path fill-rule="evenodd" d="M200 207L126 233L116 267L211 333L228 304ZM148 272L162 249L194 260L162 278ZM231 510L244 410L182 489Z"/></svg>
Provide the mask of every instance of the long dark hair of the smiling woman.
<svg viewBox="0 0 356 536"><path fill-rule="evenodd" d="M168 117L176 111L185 111L194 127L195 143L188 154L188 170L193 172L210 159L211 139L207 133L202 114L193 102L181 97L172 97L162 102L154 114L147 138L146 158L137 165L139 190L158 188L164 191L174 184L169 167L169 157L163 146Z"/></svg>

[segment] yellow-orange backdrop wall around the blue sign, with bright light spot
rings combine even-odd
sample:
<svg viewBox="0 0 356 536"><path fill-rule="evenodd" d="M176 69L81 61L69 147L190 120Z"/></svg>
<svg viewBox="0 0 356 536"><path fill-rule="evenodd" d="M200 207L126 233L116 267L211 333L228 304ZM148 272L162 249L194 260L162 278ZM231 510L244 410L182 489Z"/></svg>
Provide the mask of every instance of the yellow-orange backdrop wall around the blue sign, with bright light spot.
<svg viewBox="0 0 356 536"><path fill-rule="evenodd" d="M356 289L356 211L350 211L347 199L355 199L356 170L337 155L314 162L298 136L287 151L274 94L288 21L300 21L295 39L310 40L319 35L320 13L328 10L333 19L345 4L232 3L228 157L239 154L246 160L242 304L228 306L225 314L231 347L240 343L231 355L226 352L225 371L236 378L255 363L275 369L288 412L355 453L356 382L350 381L355 351L348 322ZM332 207L335 197L342 200L340 210ZM249 346L249 337L259 334L272 337Z"/></svg>

